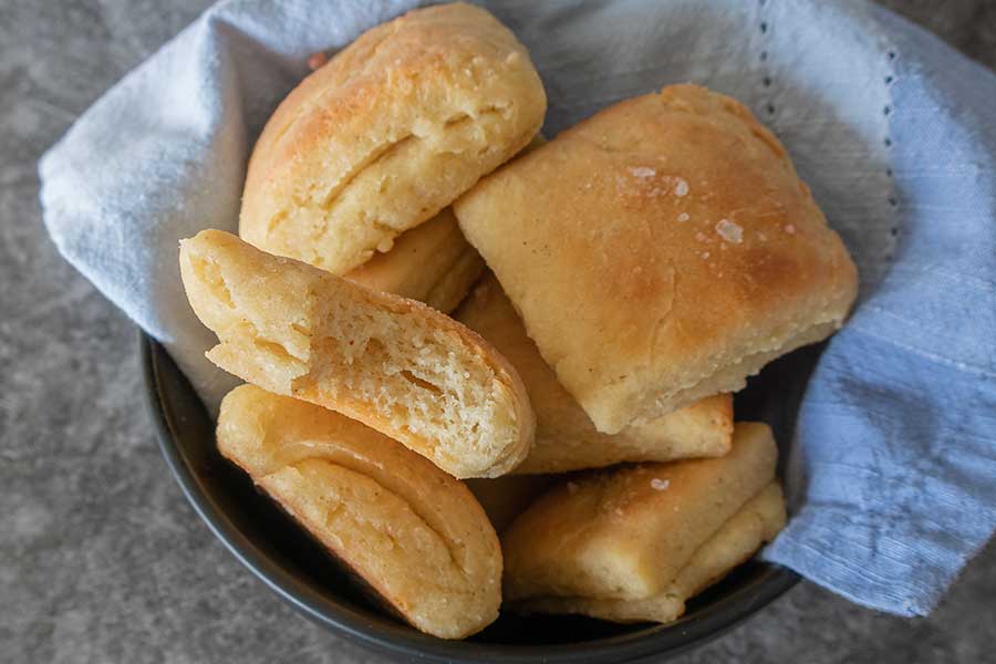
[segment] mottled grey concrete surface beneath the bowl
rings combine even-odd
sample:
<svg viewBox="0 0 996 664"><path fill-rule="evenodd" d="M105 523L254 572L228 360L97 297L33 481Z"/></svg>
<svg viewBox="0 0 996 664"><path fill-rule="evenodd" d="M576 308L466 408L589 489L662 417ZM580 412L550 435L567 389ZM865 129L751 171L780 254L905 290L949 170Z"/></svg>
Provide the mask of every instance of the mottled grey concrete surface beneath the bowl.
<svg viewBox="0 0 996 664"><path fill-rule="evenodd" d="M0 2L0 662L381 662L293 613L187 506L131 323L65 264L38 157L207 0ZM888 0L996 66L996 1ZM996 662L996 546L906 621L808 583L692 662Z"/></svg>

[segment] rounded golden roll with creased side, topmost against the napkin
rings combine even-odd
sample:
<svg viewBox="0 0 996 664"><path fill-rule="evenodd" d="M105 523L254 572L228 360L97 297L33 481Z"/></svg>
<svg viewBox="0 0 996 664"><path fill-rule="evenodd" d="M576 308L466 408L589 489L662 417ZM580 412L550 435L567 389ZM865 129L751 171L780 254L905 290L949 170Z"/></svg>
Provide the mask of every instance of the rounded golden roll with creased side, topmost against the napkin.
<svg viewBox="0 0 996 664"><path fill-rule="evenodd" d="M239 234L344 274L525 147L546 107L529 53L490 13L412 11L280 104L249 163Z"/></svg>

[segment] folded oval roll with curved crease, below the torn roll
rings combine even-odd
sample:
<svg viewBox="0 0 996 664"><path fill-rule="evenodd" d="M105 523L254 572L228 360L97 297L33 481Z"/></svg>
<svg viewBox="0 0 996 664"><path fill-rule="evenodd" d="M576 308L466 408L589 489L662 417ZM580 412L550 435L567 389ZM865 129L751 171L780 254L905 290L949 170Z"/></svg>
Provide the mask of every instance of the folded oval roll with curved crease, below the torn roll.
<svg viewBox="0 0 996 664"><path fill-rule="evenodd" d="M501 550L458 480L377 432L253 385L218 449L412 625L460 639L498 616Z"/></svg>

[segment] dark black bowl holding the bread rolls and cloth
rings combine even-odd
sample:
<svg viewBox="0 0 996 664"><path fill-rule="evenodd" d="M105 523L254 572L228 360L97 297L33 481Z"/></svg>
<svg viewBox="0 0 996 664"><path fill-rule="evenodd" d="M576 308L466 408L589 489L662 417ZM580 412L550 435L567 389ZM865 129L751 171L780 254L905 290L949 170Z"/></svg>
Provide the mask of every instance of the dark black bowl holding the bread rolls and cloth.
<svg viewBox="0 0 996 664"><path fill-rule="evenodd" d="M785 568L750 561L688 603L667 625L618 625L579 616L505 614L466 641L417 632L372 604L349 574L226 461L214 424L166 351L141 334L149 414L159 447L194 509L242 564L295 609L361 645L422 662L633 662L702 644L795 585ZM772 363L737 396L739 419L762 419L790 440L806 380L818 350Z"/></svg>

